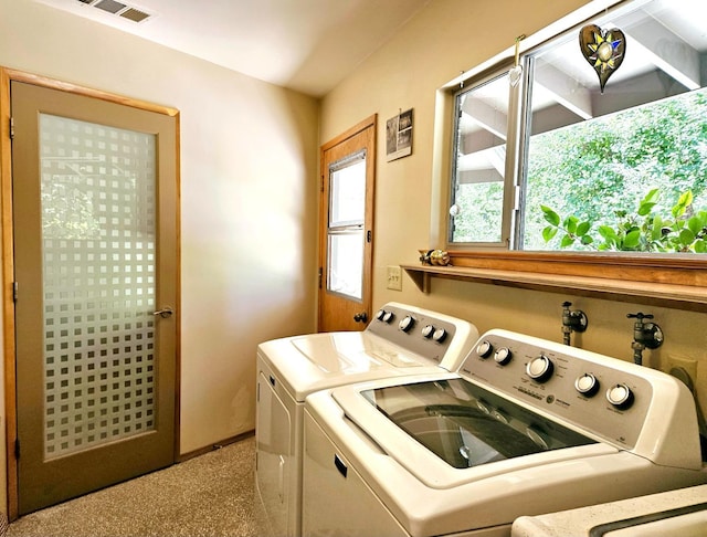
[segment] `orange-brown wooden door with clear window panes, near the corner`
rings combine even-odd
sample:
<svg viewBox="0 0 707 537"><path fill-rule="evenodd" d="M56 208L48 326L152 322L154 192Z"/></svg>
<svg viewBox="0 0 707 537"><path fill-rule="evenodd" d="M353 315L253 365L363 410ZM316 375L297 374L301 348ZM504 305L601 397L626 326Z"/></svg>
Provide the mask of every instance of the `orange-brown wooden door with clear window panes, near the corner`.
<svg viewBox="0 0 707 537"><path fill-rule="evenodd" d="M371 317L376 116L321 147L319 331Z"/></svg>

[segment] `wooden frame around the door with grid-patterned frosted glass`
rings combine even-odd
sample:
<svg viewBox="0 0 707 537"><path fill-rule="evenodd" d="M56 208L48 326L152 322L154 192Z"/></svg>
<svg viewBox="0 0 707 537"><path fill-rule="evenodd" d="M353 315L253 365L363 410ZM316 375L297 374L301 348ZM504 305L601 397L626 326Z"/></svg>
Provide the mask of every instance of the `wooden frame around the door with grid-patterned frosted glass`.
<svg viewBox="0 0 707 537"><path fill-rule="evenodd" d="M14 281L14 234L13 234L13 208L12 208L12 143L11 143L11 103L10 103L10 83L24 82L38 86L70 92L86 97L98 98L110 103L125 106L131 106L148 112L155 112L173 117L176 120L176 144L177 144L177 162L175 166L177 181L177 257L180 254L180 125L179 110L176 108L146 103L143 101L123 97L119 95L78 86L71 83L60 82L53 78L39 76L22 71L6 69L0 66L0 223L2 225L0 240L0 252L2 255L2 330L3 330L3 369L4 369L4 408L6 408L6 440L7 440L7 497L8 497L8 519L14 520L19 516L19 491L18 491L18 454L15 451L18 440L18 420L17 420L17 369L15 369L15 323L14 323L14 301L13 301L13 281ZM181 378L181 323L180 304L181 304L181 272L177 271L177 334L176 345L176 379L175 379L175 454L179 453L179 415L180 415L180 382Z"/></svg>

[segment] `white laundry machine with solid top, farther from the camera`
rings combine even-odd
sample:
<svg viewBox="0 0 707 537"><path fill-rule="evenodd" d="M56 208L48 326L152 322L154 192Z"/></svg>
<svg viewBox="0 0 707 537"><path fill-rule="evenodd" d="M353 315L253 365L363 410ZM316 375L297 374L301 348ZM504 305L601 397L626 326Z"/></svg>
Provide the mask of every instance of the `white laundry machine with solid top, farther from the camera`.
<svg viewBox="0 0 707 537"><path fill-rule="evenodd" d="M363 331L287 337L257 348L255 485L263 531L302 534L305 398L326 388L455 370L478 331L471 323L389 303Z"/></svg>

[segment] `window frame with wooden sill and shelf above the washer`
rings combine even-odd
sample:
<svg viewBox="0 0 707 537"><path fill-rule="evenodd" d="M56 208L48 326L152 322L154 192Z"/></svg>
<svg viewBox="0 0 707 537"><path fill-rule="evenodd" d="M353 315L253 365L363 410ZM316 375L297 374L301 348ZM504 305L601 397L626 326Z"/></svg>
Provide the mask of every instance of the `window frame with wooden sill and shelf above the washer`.
<svg viewBox="0 0 707 537"><path fill-rule="evenodd" d="M541 45L555 40L566 32L579 29L612 9L621 9L631 3L631 0L608 0L590 2L585 7L568 17L550 24L537 34L530 35L520 42L520 53L537 50ZM515 46L509 48L497 56L484 62L479 66L463 73L457 78L437 90L435 96L434 147L432 155L432 206L429 244L431 249L445 249L451 259L451 267L424 267L418 268L412 274L423 291L429 291L428 284L422 284L418 277L422 273L452 277L455 280L483 281L515 287L539 288L551 292L572 292L632 302L641 297L641 302L680 307L693 310L707 312L707 293L696 287L707 287L707 257L695 254L636 254L636 253L582 253L582 252L540 252L510 250L510 244L482 244L482 243L450 243L449 230L449 202L452 189L452 161L454 152L453 126L455 125L456 95L465 84L476 85L483 80L498 76L513 65L515 60ZM524 59L525 61L525 59ZM524 77L518 84L527 86ZM519 87L520 91L520 87ZM521 99L509 102L509 116L520 119L524 109L518 107ZM526 120L517 124L509 123L507 151L515 151L515 159L507 159L506 187L517 187L520 172L520 164L510 166L508 162L519 162L525 158L523 147L510 147L510 141L517 143L525 139L523 128ZM518 131L510 136L511 126ZM509 182L513 180L513 183ZM516 192L514 192L514 197ZM513 210L517 218L517 210ZM516 230L511 227L511 231ZM513 232L509 243L517 244L518 231ZM412 266L407 266L409 272L414 272ZM527 276L525 284L518 283L518 274ZM524 277L525 277L524 276ZM551 283L552 277L558 281ZM580 282L581 281L581 282ZM579 283L578 283L579 282Z"/></svg>

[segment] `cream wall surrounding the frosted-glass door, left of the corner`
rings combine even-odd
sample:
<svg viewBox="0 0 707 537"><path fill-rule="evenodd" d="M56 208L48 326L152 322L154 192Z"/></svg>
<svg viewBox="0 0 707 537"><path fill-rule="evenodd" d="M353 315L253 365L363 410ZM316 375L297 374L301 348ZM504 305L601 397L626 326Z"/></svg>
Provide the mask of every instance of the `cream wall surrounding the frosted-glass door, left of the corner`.
<svg viewBox="0 0 707 537"><path fill-rule="evenodd" d="M256 345L315 329L319 103L30 0L0 65L180 110L180 451L254 429Z"/></svg>

